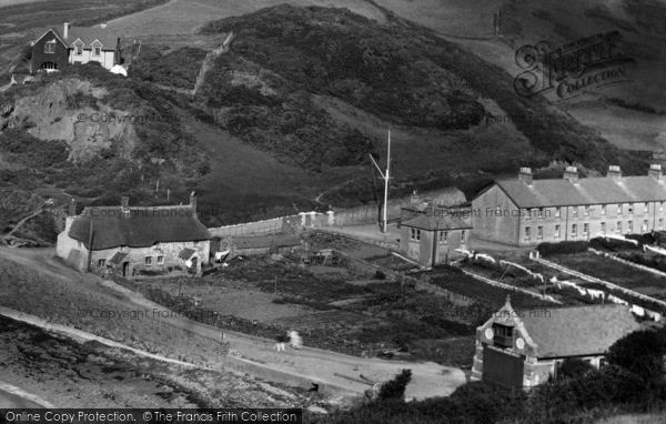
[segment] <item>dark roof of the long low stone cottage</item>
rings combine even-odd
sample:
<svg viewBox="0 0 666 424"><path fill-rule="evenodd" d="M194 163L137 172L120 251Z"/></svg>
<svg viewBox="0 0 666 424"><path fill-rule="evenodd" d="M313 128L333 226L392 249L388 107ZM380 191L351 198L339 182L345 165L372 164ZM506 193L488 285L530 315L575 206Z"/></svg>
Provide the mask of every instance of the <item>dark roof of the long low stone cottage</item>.
<svg viewBox="0 0 666 424"><path fill-rule="evenodd" d="M163 208L120 206L85 208L74 219L69 236L89 246L90 223L93 226L92 249L119 246L148 248L158 242L190 242L210 240L211 233L194 216L190 205Z"/></svg>

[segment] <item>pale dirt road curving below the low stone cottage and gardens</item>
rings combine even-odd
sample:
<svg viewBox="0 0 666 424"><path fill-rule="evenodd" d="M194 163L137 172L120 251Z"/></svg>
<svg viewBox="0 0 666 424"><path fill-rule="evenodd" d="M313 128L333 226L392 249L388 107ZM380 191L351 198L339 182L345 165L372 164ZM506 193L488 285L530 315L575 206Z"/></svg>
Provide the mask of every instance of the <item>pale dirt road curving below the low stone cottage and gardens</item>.
<svg viewBox="0 0 666 424"><path fill-rule="evenodd" d="M171 327L208 339L219 340L221 336L220 329L180 317L178 314L169 313L163 306L120 287L113 282L68 269L60 262L54 261L52 259L53 254L53 249L0 248L0 258L29 266L50 277L58 279L60 282L67 281L77 291L102 296L115 303L121 302L128 311L139 309L158 311L158 313L163 311L164 317L161 317L160 321ZM1 277L0 283L11 284L11 282L2 282ZM39 311L32 313L39 314ZM397 374L400 370L410 369L413 377L405 394L407 398L448 395L455 387L465 382L465 376L461 370L435 363L361 359L312 347L302 350L287 347L287 351L276 352L273 350L274 341L272 340L226 331L224 331L224 339L230 342L230 354L234 359L234 361L226 362L228 367L236 367L236 371L266 380L301 385L311 380L312 382L324 383L325 386L361 394L371 386L364 381L386 381ZM164 340L164 344L170 342ZM305 340L304 343L306 345L307 341ZM210 361L214 363L219 361L219 357L211 357ZM294 376L293 381L289 378L290 375Z"/></svg>

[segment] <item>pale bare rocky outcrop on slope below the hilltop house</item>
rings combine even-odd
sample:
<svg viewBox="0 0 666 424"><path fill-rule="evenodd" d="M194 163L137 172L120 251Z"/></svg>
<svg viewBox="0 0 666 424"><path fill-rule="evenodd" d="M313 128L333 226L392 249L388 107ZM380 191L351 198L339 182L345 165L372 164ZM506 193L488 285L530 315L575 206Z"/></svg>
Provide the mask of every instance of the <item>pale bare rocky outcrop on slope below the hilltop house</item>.
<svg viewBox="0 0 666 424"><path fill-rule="evenodd" d="M0 131L21 127L41 140L64 140L73 162L91 159L113 143L129 155L138 141L132 120L123 119L130 113L101 104L98 100L105 94L87 81L52 82L0 105Z"/></svg>

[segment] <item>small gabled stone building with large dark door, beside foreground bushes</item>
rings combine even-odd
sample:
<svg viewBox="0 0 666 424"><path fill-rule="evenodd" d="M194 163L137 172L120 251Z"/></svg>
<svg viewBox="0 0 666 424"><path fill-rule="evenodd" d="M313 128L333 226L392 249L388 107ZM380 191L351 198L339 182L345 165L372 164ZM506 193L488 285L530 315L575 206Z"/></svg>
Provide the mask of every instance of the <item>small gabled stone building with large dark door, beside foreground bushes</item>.
<svg viewBox="0 0 666 424"><path fill-rule="evenodd" d="M626 305L516 311L507 297L506 304L476 329L472 381L532 387L549 375L557 377L567 359L598 369L616 341L640 329Z"/></svg>

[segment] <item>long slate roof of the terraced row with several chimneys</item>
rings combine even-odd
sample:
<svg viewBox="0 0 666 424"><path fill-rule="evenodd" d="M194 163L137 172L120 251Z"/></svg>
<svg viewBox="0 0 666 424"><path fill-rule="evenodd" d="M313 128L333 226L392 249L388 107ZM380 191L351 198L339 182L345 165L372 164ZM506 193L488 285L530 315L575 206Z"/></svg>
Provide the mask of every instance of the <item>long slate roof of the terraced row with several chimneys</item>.
<svg viewBox="0 0 666 424"><path fill-rule="evenodd" d="M666 185L650 175L495 182L518 208L547 208L666 201Z"/></svg>

